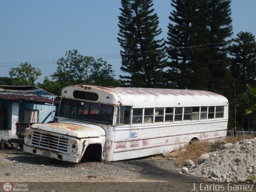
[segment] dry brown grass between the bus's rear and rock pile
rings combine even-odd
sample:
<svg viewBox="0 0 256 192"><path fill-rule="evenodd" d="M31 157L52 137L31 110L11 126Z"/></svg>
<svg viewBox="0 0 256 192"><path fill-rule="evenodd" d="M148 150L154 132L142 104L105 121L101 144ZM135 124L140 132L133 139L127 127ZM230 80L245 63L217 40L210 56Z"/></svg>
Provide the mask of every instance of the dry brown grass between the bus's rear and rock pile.
<svg viewBox="0 0 256 192"><path fill-rule="evenodd" d="M164 158L174 160L177 165L184 165L186 159L193 160L193 162L197 164L196 159L204 153L216 151L225 143L235 143L243 139L251 138L253 138L251 135L242 135L225 138L224 140L217 139L214 142L191 142L190 144L186 144L183 147L179 147L174 149L172 152L167 153Z"/></svg>

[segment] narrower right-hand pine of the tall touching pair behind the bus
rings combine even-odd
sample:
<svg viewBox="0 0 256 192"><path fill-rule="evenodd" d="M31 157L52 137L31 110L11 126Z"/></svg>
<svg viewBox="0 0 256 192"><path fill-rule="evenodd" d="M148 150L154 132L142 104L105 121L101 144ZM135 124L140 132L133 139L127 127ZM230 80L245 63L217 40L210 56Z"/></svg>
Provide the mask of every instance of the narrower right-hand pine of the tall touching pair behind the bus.
<svg viewBox="0 0 256 192"><path fill-rule="evenodd" d="M208 89L230 97L227 91L228 85L232 84L230 71L228 70L228 38L233 34L230 3L231 0L209 0L209 44L210 54L209 70L212 76Z"/></svg>

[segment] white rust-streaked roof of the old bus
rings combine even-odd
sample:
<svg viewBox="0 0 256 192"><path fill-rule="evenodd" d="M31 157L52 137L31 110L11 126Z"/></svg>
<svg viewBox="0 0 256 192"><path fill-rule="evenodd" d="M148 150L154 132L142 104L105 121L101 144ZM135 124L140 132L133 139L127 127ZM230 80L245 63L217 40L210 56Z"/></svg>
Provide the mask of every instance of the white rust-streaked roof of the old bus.
<svg viewBox="0 0 256 192"><path fill-rule="evenodd" d="M75 90L97 93L99 97L96 102L134 107L228 105L228 100L224 96L202 90L74 85L64 88L62 96L74 98Z"/></svg>

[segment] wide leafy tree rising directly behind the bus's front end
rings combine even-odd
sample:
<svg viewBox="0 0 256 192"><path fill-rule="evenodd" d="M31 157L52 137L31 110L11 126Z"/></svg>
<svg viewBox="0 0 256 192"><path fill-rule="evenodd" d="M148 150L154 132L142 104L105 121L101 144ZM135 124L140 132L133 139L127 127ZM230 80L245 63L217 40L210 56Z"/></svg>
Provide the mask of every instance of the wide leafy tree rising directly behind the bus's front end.
<svg viewBox="0 0 256 192"><path fill-rule="evenodd" d="M114 82L114 70L102 58L83 56L77 50L69 50L57 61L58 67L51 77L64 87L72 84L107 86Z"/></svg>

